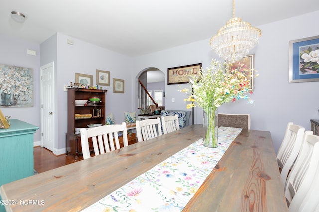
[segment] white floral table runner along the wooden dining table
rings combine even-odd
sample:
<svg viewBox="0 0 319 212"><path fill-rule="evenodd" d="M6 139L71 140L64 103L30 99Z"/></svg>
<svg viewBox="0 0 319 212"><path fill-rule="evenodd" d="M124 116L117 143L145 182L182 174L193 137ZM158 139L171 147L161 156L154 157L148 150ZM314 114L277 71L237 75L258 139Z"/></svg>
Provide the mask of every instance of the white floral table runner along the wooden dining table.
<svg viewBox="0 0 319 212"><path fill-rule="evenodd" d="M82 212L180 212L241 128L220 127L218 148L200 139Z"/></svg>

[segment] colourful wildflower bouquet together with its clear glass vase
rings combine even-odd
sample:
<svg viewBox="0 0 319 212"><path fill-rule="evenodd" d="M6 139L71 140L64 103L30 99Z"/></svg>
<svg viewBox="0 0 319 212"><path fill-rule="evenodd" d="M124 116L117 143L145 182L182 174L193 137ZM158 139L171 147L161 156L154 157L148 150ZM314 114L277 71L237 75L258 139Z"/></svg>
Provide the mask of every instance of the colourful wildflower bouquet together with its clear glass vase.
<svg viewBox="0 0 319 212"><path fill-rule="evenodd" d="M247 71L239 71L242 69L240 64L235 69L230 66L226 62L221 63L213 59L206 71L201 69L198 75L190 75L189 84L192 91L181 90L189 94L188 98L184 99L190 102L187 108L198 105L204 111L203 139L207 147L218 146L218 119L216 116L218 107L226 102L234 102L239 99L246 99L249 104L253 103L247 96L248 93L252 93L249 91Z"/></svg>

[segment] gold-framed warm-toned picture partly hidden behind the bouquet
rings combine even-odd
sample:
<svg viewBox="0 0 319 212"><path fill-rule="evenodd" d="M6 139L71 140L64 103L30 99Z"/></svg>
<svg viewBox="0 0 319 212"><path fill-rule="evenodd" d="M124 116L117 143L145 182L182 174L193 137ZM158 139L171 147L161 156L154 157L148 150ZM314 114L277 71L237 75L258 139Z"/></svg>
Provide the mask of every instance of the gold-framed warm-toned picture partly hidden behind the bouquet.
<svg viewBox="0 0 319 212"><path fill-rule="evenodd" d="M236 61L234 63L231 63L229 66L229 71L232 71L234 69L238 69L238 71L245 73L247 79L249 80L250 86L248 90L253 91L254 90L254 54L246 55L239 61Z"/></svg>

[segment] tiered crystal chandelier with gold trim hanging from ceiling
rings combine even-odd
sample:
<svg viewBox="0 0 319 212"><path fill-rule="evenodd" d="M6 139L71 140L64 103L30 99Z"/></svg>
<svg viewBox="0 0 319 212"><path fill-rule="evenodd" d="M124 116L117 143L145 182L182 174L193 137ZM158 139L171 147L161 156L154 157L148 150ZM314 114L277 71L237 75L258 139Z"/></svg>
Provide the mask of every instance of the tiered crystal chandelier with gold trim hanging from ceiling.
<svg viewBox="0 0 319 212"><path fill-rule="evenodd" d="M235 18L235 0L233 0L233 18L220 28L210 39L211 48L224 60L235 62L243 58L258 43L261 30L252 27L241 18Z"/></svg>

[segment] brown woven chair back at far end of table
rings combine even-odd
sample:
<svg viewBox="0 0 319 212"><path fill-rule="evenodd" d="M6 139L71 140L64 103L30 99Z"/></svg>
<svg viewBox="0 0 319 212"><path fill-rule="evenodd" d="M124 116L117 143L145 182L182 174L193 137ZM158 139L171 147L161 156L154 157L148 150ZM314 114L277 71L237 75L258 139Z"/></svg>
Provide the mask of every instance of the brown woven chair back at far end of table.
<svg viewBox="0 0 319 212"><path fill-rule="evenodd" d="M218 126L250 129L250 114L218 113Z"/></svg>

